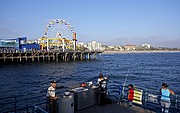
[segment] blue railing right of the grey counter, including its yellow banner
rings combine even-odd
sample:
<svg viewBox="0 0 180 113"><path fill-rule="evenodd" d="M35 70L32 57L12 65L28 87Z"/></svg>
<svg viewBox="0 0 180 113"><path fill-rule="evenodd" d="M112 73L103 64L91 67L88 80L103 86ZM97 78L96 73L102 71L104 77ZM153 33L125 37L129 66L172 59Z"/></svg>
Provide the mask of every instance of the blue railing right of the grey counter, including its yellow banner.
<svg viewBox="0 0 180 113"><path fill-rule="evenodd" d="M112 101L122 104L128 102L128 86L126 84L109 83L109 98ZM161 112L160 90L153 90L143 87L135 87L133 104L155 112ZM171 105L170 112L180 113L180 95L170 96Z"/></svg>

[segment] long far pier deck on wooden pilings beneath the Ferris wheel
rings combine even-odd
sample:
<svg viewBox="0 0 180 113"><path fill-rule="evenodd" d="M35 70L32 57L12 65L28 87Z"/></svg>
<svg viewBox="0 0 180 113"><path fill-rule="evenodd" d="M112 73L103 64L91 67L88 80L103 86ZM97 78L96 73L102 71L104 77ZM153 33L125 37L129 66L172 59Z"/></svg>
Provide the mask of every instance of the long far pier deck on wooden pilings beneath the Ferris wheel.
<svg viewBox="0 0 180 113"><path fill-rule="evenodd" d="M0 52L0 63L60 62L96 59L101 51L5 51Z"/></svg>

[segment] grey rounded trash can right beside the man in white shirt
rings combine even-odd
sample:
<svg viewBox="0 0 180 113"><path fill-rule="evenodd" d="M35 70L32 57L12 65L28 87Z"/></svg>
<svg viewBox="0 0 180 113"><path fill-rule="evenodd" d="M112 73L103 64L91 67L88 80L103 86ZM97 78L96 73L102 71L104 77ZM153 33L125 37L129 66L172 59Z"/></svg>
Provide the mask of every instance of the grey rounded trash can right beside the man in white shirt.
<svg viewBox="0 0 180 113"><path fill-rule="evenodd" d="M74 113L74 93L65 92L58 100L58 113Z"/></svg>

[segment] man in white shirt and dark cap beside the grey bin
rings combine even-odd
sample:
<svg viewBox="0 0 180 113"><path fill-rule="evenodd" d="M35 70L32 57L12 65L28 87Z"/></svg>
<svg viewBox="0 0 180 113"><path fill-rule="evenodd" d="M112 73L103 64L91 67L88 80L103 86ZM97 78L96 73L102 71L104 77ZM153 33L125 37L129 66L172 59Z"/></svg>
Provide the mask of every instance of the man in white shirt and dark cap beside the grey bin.
<svg viewBox="0 0 180 113"><path fill-rule="evenodd" d="M57 106L56 106L56 100L58 97L56 96L56 81L51 81L51 86L47 90L47 100L49 105L49 113L57 113Z"/></svg>

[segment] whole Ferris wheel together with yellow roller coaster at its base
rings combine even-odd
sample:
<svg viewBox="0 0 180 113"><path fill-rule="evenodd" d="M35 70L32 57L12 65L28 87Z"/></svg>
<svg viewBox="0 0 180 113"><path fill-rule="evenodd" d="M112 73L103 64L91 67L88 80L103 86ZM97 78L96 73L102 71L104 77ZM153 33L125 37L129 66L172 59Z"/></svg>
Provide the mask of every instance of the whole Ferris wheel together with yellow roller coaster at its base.
<svg viewBox="0 0 180 113"><path fill-rule="evenodd" d="M72 40L70 40L72 39ZM76 33L72 26L62 19L52 20L45 28L45 34L38 39L41 50L76 50Z"/></svg>

